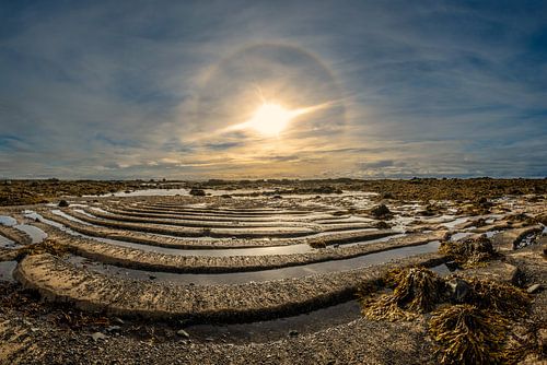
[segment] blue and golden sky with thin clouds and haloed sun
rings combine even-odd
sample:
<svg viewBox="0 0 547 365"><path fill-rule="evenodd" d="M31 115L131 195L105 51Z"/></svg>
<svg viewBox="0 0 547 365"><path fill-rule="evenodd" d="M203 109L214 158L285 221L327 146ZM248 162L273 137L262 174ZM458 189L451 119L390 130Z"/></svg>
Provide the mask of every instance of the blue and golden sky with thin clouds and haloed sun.
<svg viewBox="0 0 547 365"><path fill-rule="evenodd" d="M0 2L0 178L414 176L547 176L546 1Z"/></svg>

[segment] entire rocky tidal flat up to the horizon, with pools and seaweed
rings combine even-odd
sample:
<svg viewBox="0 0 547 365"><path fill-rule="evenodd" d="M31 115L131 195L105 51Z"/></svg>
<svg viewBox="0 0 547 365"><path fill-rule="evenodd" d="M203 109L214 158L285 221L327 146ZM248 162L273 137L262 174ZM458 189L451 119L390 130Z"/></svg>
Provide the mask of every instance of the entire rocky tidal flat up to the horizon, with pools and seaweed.
<svg viewBox="0 0 547 365"><path fill-rule="evenodd" d="M546 179L13 180L0 198L2 364L450 363L439 333L465 310L503 322L485 358L545 358Z"/></svg>

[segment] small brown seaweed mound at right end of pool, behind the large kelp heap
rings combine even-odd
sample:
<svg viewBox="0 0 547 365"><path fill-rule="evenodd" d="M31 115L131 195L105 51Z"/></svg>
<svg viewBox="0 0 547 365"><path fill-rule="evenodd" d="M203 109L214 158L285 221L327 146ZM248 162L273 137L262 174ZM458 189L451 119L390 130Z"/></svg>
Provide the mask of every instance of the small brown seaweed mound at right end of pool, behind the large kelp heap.
<svg viewBox="0 0 547 365"><path fill-rule="evenodd" d="M439 247L439 252L446 255L464 268L479 266L497 256L492 242L485 236L468 238L464 242L443 242Z"/></svg>

